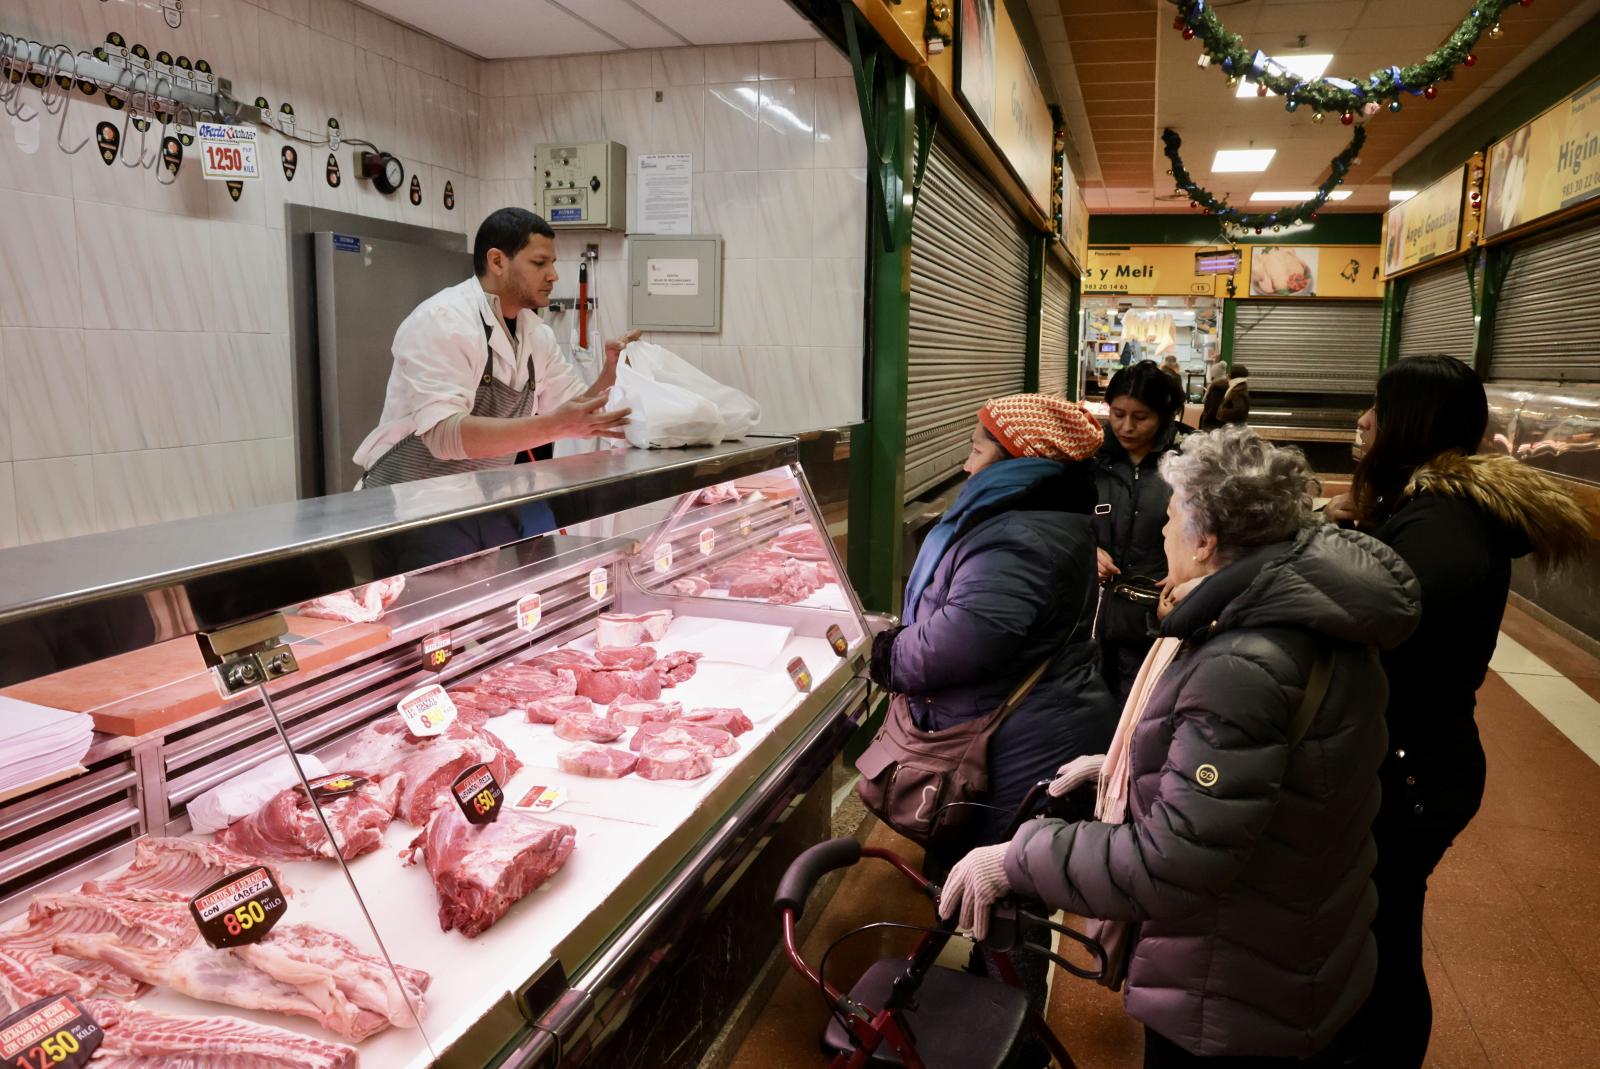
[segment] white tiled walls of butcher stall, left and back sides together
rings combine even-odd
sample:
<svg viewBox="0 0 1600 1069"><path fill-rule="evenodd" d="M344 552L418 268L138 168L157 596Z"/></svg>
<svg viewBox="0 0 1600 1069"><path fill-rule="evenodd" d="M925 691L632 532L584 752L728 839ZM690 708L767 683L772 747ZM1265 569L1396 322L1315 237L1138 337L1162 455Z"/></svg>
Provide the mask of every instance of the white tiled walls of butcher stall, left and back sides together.
<svg viewBox="0 0 1600 1069"><path fill-rule="evenodd" d="M21 114L0 110L0 546L293 498L285 203L470 235L483 211L531 205L531 146L550 138L693 152L694 229L726 237L725 330L658 341L762 400L765 429L859 413L864 149L827 43L482 62L347 0L186 0L178 30L149 0L5 0L0 30L206 58L240 99L288 99L302 131L334 115L422 182L418 206L382 197L344 147L333 189L304 144L288 181L266 131L264 179L235 203L192 157L171 184L128 166L134 150L104 165L94 125L125 112L83 96L46 112L24 86ZM565 286L582 243L562 240ZM600 245L613 336L622 238Z"/></svg>

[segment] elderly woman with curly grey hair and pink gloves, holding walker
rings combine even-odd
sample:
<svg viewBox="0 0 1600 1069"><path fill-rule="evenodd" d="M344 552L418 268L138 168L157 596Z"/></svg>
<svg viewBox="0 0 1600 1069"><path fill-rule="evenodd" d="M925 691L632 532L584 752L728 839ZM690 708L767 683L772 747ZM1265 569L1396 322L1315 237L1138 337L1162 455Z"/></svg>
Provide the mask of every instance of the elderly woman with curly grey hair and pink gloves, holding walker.
<svg viewBox="0 0 1600 1069"><path fill-rule="evenodd" d="M1373 983L1379 648L1416 627L1418 584L1376 539L1309 526L1304 456L1248 427L1189 437L1162 478L1162 639L1107 755L1053 786L1098 773L1098 819L973 850L939 909L979 939L1010 891L1098 919L1146 1066L1296 1064Z"/></svg>

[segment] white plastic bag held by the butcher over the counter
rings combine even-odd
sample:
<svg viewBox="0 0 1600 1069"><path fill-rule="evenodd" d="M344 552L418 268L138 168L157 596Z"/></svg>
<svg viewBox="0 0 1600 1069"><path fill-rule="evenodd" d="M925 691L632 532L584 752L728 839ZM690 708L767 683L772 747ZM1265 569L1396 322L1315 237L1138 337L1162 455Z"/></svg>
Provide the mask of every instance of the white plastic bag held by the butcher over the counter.
<svg viewBox="0 0 1600 1069"><path fill-rule="evenodd" d="M640 450L715 445L744 437L762 418L754 398L648 341L622 350L606 408L634 410L626 434Z"/></svg>

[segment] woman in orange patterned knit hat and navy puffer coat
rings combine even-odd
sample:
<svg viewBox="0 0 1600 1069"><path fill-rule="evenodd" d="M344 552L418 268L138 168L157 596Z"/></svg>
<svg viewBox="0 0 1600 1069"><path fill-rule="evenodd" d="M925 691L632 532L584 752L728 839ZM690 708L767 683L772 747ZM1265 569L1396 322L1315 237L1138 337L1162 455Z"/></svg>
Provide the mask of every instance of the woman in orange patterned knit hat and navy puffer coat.
<svg viewBox="0 0 1600 1069"><path fill-rule="evenodd" d="M960 496L930 531L906 583L904 626L872 643L872 679L907 696L917 727L939 731L998 709L1043 661L1045 675L989 739L989 789L963 842L930 848L942 874L1005 837L1022 795L1062 762L1098 754L1117 711L1096 671L1094 477L1099 424L1045 394L984 403ZM974 967L982 959L974 955ZM1018 955L1043 1008L1048 960ZM1022 1066L1043 1066L1030 1045Z"/></svg>

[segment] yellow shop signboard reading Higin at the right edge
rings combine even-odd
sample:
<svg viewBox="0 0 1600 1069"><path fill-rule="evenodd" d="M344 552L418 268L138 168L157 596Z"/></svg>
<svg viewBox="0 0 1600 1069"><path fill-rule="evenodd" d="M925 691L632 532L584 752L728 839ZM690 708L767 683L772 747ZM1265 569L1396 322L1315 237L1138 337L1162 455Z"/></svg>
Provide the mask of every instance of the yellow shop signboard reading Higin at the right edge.
<svg viewBox="0 0 1600 1069"><path fill-rule="evenodd" d="M1600 197L1600 78L1490 146L1483 237Z"/></svg>

